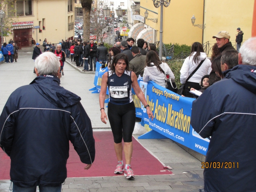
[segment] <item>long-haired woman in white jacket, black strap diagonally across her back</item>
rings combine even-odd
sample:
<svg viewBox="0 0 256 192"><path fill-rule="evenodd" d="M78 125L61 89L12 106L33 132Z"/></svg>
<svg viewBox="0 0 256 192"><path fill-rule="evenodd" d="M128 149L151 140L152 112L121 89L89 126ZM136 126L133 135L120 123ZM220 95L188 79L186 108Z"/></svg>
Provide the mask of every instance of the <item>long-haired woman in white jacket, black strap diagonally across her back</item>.
<svg viewBox="0 0 256 192"><path fill-rule="evenodd" d="M188 79L190 74L197 68L201 61L203 63L200 68L198 68L194 75ZM201 82L204 75L209 75L211 70L211 61L206 58L203 45L199 42L193 43L190 55L185 59L180 69L180 83L185 84L184 96L193 98L194 95L189 92L190 88L193 87L196 90L200 90L201 87L199 82Z"/></svg>

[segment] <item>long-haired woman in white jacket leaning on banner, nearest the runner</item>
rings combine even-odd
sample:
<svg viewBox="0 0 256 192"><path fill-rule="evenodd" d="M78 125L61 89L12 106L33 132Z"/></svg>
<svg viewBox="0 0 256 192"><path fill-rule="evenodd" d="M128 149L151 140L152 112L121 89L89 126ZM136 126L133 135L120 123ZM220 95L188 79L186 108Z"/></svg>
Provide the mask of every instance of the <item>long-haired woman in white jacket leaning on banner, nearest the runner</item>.
<svg viewBox="0 0 256 192"><path fill-rule="evenodd" d="M160 61L154 51L149 51L146 55L146 67L144 69L143 81L154 81L156 84L165 88L165 75L169 75L174 82L174 75L167 63Z"/></svg>

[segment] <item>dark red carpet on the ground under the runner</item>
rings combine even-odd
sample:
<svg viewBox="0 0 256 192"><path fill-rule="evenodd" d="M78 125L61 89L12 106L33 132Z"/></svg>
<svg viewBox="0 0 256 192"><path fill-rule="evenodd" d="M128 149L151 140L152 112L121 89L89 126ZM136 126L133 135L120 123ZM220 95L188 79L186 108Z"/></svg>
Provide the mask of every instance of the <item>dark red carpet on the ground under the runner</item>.
<svg viewBox="0 0 256 192"><path fill-rule="evenodd" d="M84 170L86 164L81 163L79 156L70 143L67 163L68 177L104 177L117 176L114 174L117 159L114 150L112 132L93 132L95 139L96 157L89 170ZM135 175L173 174L163 169L163 165L152 156L140 143L133 138L132 170ZM0 180L10 179L10 158L0 150ZM124 155L123 155L124 159ZM124 161L125 164L125 161ZM164 171L165 172L160 172Z"/></svg>

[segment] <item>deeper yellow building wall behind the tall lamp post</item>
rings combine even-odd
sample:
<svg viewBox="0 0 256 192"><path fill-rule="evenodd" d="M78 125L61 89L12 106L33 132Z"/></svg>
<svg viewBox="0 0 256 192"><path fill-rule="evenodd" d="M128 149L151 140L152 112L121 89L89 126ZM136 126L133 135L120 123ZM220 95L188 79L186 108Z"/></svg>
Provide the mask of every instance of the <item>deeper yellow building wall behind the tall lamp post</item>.
<svg viewBox="0 0 256 192"><path fill-rule="evenodd" d="M151 10L158 14L148 11L148 18L157 18L158 22L146 20L146 24L157 30L157 39L159 40L160 31L160 7L155 8L151 0L141 0L140 15ZM191 17L195 15L195 24L203 24L204 0L171 0L168 7L164 7L163 15L163 42L165 44L179 43L191 45L194 42L202 43L202 29L194 27L191 23Z"/></svg>

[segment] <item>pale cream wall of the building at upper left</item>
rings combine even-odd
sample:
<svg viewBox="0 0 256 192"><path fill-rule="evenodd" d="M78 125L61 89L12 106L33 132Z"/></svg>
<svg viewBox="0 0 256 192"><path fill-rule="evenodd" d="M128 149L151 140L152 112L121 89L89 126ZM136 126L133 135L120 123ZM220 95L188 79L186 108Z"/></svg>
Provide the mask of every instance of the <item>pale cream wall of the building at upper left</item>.
<svg viewBox="0 0 256 192"><path fill-rule="evenodd" d="M37 31L37 41L43 44L44 39L50 43L59 43L61 39L66 39L74 36L74 29L68 30L68 16L73 15L73 21L75 19L74 15L74 2L73 11L68 12L68 1L66 0L40 0L38 1L38 14L37 14L37 1L32 4L33 15L32 16L20 16L18 21L34 21L34 27L39 26L39 21L42 22L41 28L42 32L39 33L39 29L32 29L32 37L36 40ZM37 19L38 18L38 19ZM43 19L45 19L45 29L43 30ZM6 36L6 41L13 39L13 34ZM41 41L39 41L41 39Z"/></svg>

